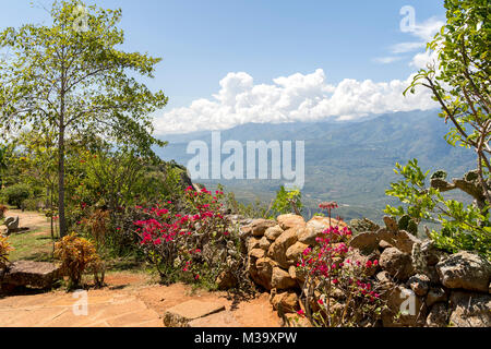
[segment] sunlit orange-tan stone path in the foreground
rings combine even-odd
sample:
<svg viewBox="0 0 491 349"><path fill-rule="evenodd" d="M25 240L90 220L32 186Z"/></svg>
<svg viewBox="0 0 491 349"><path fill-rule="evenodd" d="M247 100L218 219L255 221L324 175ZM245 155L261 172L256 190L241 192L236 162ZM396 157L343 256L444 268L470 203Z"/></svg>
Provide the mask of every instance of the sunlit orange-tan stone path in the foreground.
<svg viewBox="0 0 491 349"><path fill-rule="evenodd" d="M276 327L280 320L266 293L250 301L233 302L224 292L194 291L181 284L148 285L144 276L108 276L108 287L86 293L87 314L76 314L82 298L73 292L52 291L0 299L0 327L163 327L164 315L180 309L193 312L190 326ZM189 301L192 301L189 303ZM200 304L212 309L197 314ZM206 308L205 306L205 308ZM197 311L197 313L196 313ZM185 315L184 315L185 316Z"/></svg>

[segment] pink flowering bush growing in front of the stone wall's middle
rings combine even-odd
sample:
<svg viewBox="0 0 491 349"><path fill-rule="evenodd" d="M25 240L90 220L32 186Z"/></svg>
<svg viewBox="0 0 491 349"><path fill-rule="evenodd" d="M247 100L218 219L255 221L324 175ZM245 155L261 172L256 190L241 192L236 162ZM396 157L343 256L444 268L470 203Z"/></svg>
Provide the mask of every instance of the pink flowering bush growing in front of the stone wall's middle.
<svg viewBox="0 0 491 349"><path fill-rule="evenodd" d="M306 278L302 299L307 316L316 326L374 325L383 308L381 291L370 280L369 270L379 261L350 261L351 230L330 227L308 248L297 264Z"/></svg>

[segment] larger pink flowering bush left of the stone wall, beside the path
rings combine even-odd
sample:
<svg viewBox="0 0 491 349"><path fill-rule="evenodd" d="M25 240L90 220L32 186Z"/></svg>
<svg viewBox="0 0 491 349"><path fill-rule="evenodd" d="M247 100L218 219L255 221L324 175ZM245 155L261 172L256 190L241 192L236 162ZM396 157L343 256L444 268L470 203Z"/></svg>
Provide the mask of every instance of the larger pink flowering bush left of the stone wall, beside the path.
<svg viewBox="0 0 491 349"><path fill-rule="evenodd" d="M239 240L223 215L223 198L221 191L189 186L184 207L170 201L136 207L144 217L134 221L140 248L165 282L179 277L214 284L220 273L240 268L240 261L233 261Z"/></svg>

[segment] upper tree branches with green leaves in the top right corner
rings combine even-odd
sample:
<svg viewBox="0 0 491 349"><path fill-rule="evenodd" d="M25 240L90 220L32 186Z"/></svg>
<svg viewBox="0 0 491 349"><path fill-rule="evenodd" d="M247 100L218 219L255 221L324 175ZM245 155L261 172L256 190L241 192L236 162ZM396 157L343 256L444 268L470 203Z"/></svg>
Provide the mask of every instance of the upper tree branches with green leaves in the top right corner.
<svg viewBox="0 0 491 349"><path fill-rule="evenodd" d="M477 174L487 204L491 204L491 21L488 0L445 0L446 25L427 49L438 53L406 89L430 88L442 107L440 117L453 124L446 134L450 144L474 148Z"/></svg>

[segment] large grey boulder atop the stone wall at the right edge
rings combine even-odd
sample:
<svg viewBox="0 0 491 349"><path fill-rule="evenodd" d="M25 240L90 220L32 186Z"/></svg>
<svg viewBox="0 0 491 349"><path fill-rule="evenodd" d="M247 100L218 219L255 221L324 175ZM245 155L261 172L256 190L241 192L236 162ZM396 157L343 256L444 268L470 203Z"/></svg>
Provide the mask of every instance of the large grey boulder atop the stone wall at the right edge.
<svg viewBox="0 0 491 349"><path fill-rule="evenodd" d="M443 286L470 291L489 291L491 264L478 254L462 251L436 264Z"/></svg>

